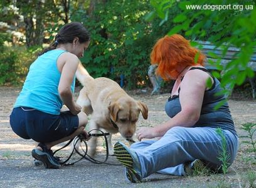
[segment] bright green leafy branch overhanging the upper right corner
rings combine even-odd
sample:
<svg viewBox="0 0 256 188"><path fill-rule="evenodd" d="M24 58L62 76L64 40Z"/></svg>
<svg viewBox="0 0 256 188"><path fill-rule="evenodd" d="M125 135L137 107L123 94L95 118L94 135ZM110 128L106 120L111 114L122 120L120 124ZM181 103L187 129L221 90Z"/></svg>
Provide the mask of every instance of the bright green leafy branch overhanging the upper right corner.
<svg viewBox="0 0 256 188"><path fill-rule="evenodd" d="M252 54L255 53L256 46L255 1L237 3L237 1L192 0L176 3L174 0L151 0L151 4L154 8L149 14L151 20L154 16L166 20L163 15L178 4L180 13L170 19L179 24L174 28L169 28L171 30L168 34L185 32L188 39L207 39L223 49L222 56L225 56L229 47L240 48L240 52L236 53L233 60L223 68L225 70L221 79L223 87L229 85L230 89L233 89L233 86L241 85L247 76L253 76L253 71L247 65ZM208 9L203 9L206 4L208 4ZM228 4L232 8L216 9ZM191 9L191 7L189 9L188 7L195 5L201 6L201 9ZM243 6L243 10L238 5Z"/></svg>

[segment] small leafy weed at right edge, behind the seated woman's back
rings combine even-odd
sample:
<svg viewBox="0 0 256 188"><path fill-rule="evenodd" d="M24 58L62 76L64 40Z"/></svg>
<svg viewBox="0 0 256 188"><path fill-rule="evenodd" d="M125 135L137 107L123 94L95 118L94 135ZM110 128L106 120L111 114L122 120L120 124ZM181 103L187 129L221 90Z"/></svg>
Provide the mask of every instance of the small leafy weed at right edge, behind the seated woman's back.
<svg viewBox="0 0 256 188"><path fill-rule="evenodd" d="M247 144L250 147L248 149L248 152L254 153L254 159L256 159L256 140L253 139L253 135L256 131L256 123L243 123L242 130L247 132L247 135L240 137L240 138L247 139L247 140L243 140L242 144Z"/></svg>

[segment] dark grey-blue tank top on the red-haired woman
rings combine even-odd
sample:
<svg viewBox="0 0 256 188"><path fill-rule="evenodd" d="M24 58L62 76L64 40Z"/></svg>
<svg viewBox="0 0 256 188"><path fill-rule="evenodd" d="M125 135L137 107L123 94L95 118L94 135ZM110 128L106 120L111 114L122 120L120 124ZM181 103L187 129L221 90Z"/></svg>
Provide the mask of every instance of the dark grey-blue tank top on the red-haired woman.
<svg viewBox="0 0 256 188"><path fill-rule="evenodd" d="M200 69L209 73L206 68L192 67L190 70L194 69ZM213 81L214 83L210 90L205 91L200 118L193 127L220 127L223 130L229 130L230 132L237 135L228 103L225 102L223 105L221 105L220 108L218 108L218 110L214 110L214 107L219 102L225 100L226 97L224 95L215 95L215 93L218 93L218 91L223 89L220 86L220 81L218 81L216 78L213 78ZM179 95L174 95L168 99L168 102L166 102L165 110L167 115L171 118L173 118L177 113L181 112Z"/></svg>

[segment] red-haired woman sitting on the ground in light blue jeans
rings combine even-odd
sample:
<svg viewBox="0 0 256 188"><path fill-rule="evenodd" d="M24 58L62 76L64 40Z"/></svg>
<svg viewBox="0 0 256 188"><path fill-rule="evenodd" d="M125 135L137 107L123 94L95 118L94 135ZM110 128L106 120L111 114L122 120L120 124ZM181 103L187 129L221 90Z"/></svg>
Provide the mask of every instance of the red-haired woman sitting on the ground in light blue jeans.
<svg viewBox="0 0 256 188"><path fill-rule="evenodd" d="M197 61L195 61L195 57ZM237 155L238 137L220 82L203 67L205 56L179 34L164 36L151 52L151 63L164 80L175 80L165 110L170 119L156 127L142 127L137 137L159 138L131 145L114 146L131 182L140 182L154 172L186 175L195 165L221 171L219 160L223 133L227 141L227 164ZM210 80L211 86L206 85ZM218 110L215 106L223 102ZM221 128L221 133L216 133ZM218 129L219 130L219 129Z"/></svg>

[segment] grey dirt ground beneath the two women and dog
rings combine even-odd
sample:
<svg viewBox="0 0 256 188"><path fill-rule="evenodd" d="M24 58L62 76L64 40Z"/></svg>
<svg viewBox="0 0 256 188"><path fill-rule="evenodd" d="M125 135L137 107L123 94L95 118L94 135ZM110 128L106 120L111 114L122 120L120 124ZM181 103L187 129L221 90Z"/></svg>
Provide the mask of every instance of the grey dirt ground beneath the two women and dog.
<svg viewBox="0 0 256 188"><path fill-rule="evenodd" d="M248 171L256 169L255 163L246 160L250 158L246 145L240 145L237 160L225 175L177 177L153 174L142 184L126 182L124 168L120 165L110 165L118 164L113 156L109 157L109 165L97 165L81 160L75 165L58 170L35 167L31 157L34 142L19 138L9 125L9 115L19 91L19 88L0 87L0 187L248 187L244 177ZM153 127L168 119L164 112L164 103L169 94L150 96L149 93L129 92L149 108L149 118L144 120L140 116L137 127ZM78 96L77 92L75 96ZM242 123L256 123L256 100L229 100L228 103L238 135L245 135L240 127ZM114 143L117 140L124 141L119 134L114 136ZM61 156L68 154L68 149L61 152ZM103 159L104 154L99 154L99 158Z"/></svg>

